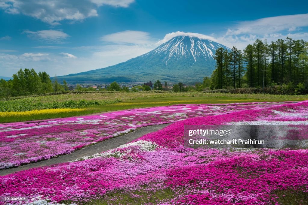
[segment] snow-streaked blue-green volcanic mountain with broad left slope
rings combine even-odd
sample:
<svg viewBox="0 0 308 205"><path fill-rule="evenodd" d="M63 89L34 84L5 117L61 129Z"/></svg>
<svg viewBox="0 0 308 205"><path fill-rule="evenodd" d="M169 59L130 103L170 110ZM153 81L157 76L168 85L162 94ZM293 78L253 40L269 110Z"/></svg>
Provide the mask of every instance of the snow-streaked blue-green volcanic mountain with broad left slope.
<svg viewBox="0 0 308 205"><path fill-rule="evenodd" d="M111 81L201 82L215 69L216 49L228 47L189 35L180 35L156 49L107 68L57 77L71 83Z"/></svg>

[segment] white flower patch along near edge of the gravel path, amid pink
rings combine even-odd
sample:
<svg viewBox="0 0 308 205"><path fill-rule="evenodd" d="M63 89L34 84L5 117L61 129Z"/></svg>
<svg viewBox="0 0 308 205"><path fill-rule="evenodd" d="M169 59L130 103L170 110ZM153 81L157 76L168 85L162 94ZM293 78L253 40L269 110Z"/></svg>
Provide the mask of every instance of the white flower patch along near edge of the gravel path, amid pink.
<svg viewBox="0 0 308 205"><path fill-rule="evenodd" d="M91 156L84 156L84 157L79 157L78 159L71 161L71 162L76 162L76 161L83 161L83 160L88 160L88 159L95 159L98 157L117 157L120 158L122 156L125 156L130 152L130 150L127 150L125 152L120 152L118 151L119 148L126 148L130 146L137 146L139 147L140 150L145 151L145 152L150 152L158 148L159 146L156 143L146 141L146 140L138 140L136 142L131 142L128 144L123 144L115 149L108 150L103 153L97 153Z"/></svg>

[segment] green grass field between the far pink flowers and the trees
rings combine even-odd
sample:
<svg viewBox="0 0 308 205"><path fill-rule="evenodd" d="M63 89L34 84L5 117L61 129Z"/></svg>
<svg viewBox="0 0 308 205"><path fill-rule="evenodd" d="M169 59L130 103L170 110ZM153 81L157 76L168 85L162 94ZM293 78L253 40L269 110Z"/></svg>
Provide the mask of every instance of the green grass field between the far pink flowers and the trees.
<svg viewBox="0 0 308 205"><path fill-rule="evenodd" d="M20 99L6 99L0 101L0 111L28 111L55 108L63 105L63 108L87 108L80 112L66 112L55 114L36 114L34 116L0 117L0 122L17 122L28 120L41 120L49 118L60 118L69 116L80 116L99 112L125 110L131 108L144 108L165 106L173 104L216 104L216 103L239 103L239 102L273 102L273 101L303 101L308 96L303 95L262 95L262 94L228 94L228 93L203 93L203 92L137 92L137 93L82 93L82 94L60 94L39 97L23 97ZM89 103L79 104L75 101L86 100ZM67 101L73 103L67 103ZM98 105L91 105L92 102ZM77 104L77 105L76 105ZM2 107L1 107L2 106ZM58 107L56 107L58 108ZM0 112L1 113L1 112Z"/></svg>

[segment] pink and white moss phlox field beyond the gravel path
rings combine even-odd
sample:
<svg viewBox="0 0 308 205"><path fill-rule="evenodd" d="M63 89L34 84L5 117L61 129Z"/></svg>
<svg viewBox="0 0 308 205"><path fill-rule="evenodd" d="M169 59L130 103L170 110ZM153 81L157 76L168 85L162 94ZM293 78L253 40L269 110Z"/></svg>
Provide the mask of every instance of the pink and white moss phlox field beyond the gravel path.
<svg viewBox="0 0 308 205"><path fill-rule="evenodd" d="M272 106L277 104L185 104L0 124L0 169L69 154L84 146L144 126Z"/></svg>

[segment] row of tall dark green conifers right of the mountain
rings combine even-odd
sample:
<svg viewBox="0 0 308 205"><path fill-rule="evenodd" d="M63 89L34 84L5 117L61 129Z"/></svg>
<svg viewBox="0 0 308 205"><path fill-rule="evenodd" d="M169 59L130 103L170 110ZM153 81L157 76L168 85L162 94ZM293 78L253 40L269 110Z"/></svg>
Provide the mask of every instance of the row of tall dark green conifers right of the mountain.
<svg viewBox="0 0 308 205"><path fill-rule="evenodd" d="M268 43L257 39L241 51L216 50L212 89L292 85L308 87L308 44L287 37Z"/></svg>

